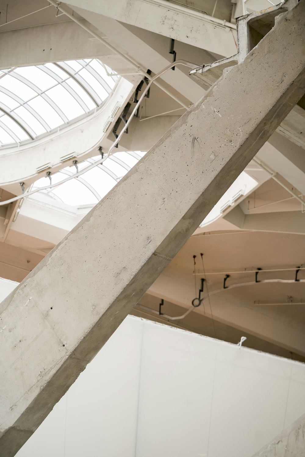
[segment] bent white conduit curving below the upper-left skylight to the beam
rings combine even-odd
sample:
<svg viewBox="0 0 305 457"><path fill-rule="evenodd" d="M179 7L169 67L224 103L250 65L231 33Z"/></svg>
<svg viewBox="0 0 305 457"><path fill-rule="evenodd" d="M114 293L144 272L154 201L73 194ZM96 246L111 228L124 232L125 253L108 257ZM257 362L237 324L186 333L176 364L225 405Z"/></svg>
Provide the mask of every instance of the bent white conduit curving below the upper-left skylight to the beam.
<svg viewBox="0 0 305 457"><path fill-rule="evenodd" d="M155 76L152 76L151 79L150 79L150 82L149 82L148 85L145 87L145 89L144 89L142 95L140 96L138 103L134 106L134 110L133 110L133 112L131 113L131 115L129 116L128 121L127 121L126 124L123 126L123 129L121 130L121 132L118 134L118 138L117 138L117 139L112 143L112 145L110 146L110 148L109 148L109 150L108 150L108 152L107 152L107 155L106 155L105 157L103 157L102 159L96 160L92 165L89 165L89 166L87 166L86 168L83 168L83 169L80 170L78 173L75 173L74 175L71 175L71 176L69 176L68 178L63 179L62 181L59 181L59 182L54 183L54 184L49 184L48 186L39 187L39 189L35 189L35 190L33 190L33 191L28 191L28 192L25 192L25 193L22 194L22 195L17 195L17 197L13 197L13 198L10 198L9 200L5 200L4 202L0 202L0 206L6 205L7 203L16 202L17 200L20 200L21 198L29 197L30 195L35 194L36 192L44 191L44 190L46 190L46 189L51 189L52 187L60 186L61 184L64 184L64 182L70 181L71 179L77 178L78 176L82 175L83 173L86 173L86 171L91 170L91 169L94 168L96 165L102 164L106 159L108 159L109 155L111 154L111 151L115 148L116 144L118 144L118 142L119 142L120 139L122 138L122 136L123 136L125 130L128 128L128 125L129 125L130 122L132 121L132 119L133 119L135 113L136 113L137 110L138 110L138 107L140 106L142 100L144 99L144 96L145 96L146 92L149 90L149 88L150 88L150 86L152 85L152 83L153 83L157 78L159 78L162 74L164 74L167 70L171 69L172 67L174 67L174 66L176 66L176 65L184 65L184 66L190 67L190 68L195 68L195 67L196 67L195 64L191 64L190 62L187 62L186 60L176 60L176 62L173 62L172 64L167 65L166 68L164 68L163 70L161 70L159 73L155 74Z"/></svg>

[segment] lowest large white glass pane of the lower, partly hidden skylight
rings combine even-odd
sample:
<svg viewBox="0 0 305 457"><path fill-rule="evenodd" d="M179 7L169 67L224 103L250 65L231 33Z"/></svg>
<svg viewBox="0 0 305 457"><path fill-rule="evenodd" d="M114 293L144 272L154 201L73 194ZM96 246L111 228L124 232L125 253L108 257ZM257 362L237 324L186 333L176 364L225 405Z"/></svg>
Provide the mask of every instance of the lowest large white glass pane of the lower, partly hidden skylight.
<svg viewBox="0 0 305 457"><path fill-rule="evenodd" d="M64 203L71 206L96 204L97 198L93 193L76 179L71 179L59 187L53 189L53 193L57 195Z"/></svg>

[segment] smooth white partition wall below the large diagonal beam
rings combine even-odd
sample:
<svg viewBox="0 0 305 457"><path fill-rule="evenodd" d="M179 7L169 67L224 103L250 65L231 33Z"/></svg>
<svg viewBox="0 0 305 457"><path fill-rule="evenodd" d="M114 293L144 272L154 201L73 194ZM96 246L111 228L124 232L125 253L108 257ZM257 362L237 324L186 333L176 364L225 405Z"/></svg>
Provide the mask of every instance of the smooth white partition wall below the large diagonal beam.
<svg viewBox="0 0 305 457"><path fill-rule="evenodd" d="M305 365L128 316L17 457L251 457L305 412Z"/></svg>

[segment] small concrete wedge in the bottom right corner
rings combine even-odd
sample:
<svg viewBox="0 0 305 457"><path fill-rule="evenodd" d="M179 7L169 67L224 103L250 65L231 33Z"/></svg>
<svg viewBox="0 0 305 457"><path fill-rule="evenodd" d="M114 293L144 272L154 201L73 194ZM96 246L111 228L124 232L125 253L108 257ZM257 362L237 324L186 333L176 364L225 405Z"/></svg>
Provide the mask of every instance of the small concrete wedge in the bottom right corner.
<svg viewBox="0 0 305 457"><path fill-rule="evenodd" d="M253 457L304 457L305 414Z"/></svg>

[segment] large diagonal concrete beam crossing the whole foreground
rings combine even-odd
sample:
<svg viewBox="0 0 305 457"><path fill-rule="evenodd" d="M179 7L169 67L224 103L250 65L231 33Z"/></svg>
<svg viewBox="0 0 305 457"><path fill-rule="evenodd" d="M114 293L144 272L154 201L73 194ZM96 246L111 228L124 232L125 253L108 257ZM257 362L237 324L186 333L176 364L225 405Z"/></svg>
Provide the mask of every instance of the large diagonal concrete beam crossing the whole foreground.
<svg viewBox="0 0 305 457"><path fill-rule="evenodd" d="M304 32L301 0L0 304L1 457L32 435L305 92Z"/></svg>

